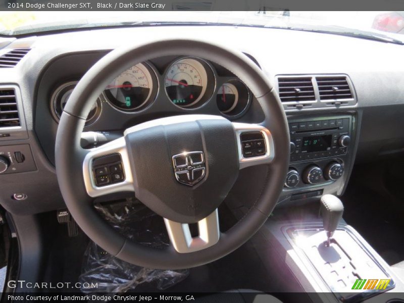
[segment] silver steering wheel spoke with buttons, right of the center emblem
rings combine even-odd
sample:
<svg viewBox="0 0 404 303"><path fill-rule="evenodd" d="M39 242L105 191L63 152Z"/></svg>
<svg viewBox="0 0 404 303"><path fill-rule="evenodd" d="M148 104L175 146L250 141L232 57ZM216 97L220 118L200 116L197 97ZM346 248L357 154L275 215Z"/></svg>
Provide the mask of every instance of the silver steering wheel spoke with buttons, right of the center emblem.
<svg viewBox="0 0 404 303"><path fill-rule="evenodd" d="M275 156L274 142L268 128L259 124L233 122L236 132L240 169L269 164Z"/></svg>

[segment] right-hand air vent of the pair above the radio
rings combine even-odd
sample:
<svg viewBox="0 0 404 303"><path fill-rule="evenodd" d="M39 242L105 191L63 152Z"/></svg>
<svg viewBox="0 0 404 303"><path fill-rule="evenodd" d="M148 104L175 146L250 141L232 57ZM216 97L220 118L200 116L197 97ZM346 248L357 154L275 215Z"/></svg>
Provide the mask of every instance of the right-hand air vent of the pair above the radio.
<svg viewBox="0 0 404 303"><path fill-rule="evenodd" d="M335 102L335 100L352 99L346 77L316 77L319 87L320 100L325 102Z"/></svg>

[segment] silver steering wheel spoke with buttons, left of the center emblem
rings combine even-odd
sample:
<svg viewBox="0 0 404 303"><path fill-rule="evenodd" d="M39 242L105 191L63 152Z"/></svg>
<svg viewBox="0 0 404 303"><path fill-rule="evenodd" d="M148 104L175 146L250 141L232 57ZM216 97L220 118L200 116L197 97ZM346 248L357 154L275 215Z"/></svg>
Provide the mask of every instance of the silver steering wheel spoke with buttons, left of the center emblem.
<svg viewBox="0 0 404 303"><path fill-rule="evenodd" d="M90 149L83 161L83 177L91 197L134 191L125 138Z"/></svg>

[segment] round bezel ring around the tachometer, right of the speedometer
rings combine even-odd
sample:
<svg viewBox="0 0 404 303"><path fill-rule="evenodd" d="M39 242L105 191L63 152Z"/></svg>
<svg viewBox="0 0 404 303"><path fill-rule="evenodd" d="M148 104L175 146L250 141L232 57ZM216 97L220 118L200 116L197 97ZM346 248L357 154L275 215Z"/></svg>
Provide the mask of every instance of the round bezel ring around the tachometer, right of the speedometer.
<svg viewBox="0 0 404 303"><path fill-rule="evenodd" d="M170 71L171 67L178 62L185 60L185 59L192 59L195 60L196 62L200 63L202 67L204 68L206 72L206 87L203 92L201 92L200 98L196 99L195 102L188 104L186 106L181 106L178 104L174 104L173 100L170 98L170 96L167 93L166 89L166 78L168 75L168 72ZM211 81L213 80L213 81ZM204 59L198 58L198 57L189 57L189 56L181 56L173 60L168 66L166 67L164 74L163 74L163 81L164 81L164 91L166 93L166 97L170 101L172 105L174 105L177 108L183 109L183 110L194 110L194 109L199 109L203 107L208 101L212 98L216 91L217 87L217 79L216 79L216 74L215 74L215 69L213 68L212 64Z"/></svg>

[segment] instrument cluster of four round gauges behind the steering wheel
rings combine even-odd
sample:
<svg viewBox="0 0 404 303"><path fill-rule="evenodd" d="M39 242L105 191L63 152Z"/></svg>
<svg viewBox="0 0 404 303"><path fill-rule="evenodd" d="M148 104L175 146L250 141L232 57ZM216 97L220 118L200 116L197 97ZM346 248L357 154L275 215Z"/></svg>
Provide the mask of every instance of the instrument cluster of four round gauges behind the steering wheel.
<svg viewBox="0 0 404 303"><path fill-rule="evenodd" d="M163 69L151 62L138 63L112 80L94 100L86 126L97 120L105 103L124 113L137 113L153 105L157 98L183 110L216 103L218 114L239 118L250 106L252 96L243 82L228 73L219 76L214 65L193 57L177 58ZM57 122L76 84L77 81L68 81L53 91L51 112Z"/></svg>

